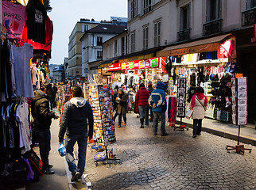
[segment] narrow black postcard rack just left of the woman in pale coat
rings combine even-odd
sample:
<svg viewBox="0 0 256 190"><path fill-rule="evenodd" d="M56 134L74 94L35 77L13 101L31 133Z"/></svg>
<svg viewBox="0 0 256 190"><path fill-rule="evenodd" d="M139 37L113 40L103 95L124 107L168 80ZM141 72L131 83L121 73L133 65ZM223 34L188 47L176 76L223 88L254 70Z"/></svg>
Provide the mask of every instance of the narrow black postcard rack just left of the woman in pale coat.
<svg viewBox="0 0 256 190"><path fill-rule="evenodd" d="M171 126L174 128L174 131L177 129L179 131L184 131L187 129L185 125L182 124L182 118L185 117L185 101L186 101L186 78L177 78L177 101L176 101L176 116L180 117L180 126Z"/></svg>

